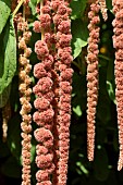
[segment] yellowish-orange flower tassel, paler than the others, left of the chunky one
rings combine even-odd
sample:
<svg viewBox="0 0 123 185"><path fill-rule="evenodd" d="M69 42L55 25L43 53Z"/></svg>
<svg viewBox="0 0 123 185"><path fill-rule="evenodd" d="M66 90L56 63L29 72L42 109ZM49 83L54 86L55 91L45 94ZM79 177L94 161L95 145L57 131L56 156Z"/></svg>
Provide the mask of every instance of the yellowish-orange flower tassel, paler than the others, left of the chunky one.
<svg viewBox="0 0 123 185"><path fill-rule="evenodd" d="M32 33L28 30L27 22L25 21L25 5L27 5L28 1L23 5L23 17L20 16L20 21L17 24L17 30L22 32L22 36L19 37L19 49L20 49L20 102L22 104L22 109L20 114L22 115L22 185L30 185L30 139L32 139L32 104L29 103L32 89L29 85L32 79L29 77L29 72L32 70L32 65L29 64L29 55L32 53L32 49L27 47L27 44L30 39Z"/></svg>

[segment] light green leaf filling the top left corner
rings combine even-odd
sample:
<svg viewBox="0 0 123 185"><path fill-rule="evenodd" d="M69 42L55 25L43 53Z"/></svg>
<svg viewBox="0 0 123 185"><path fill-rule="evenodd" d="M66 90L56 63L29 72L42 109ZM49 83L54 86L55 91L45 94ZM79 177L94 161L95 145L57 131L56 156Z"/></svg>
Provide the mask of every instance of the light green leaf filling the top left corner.
<svg viewBox="0 0 123 185"><path fill-rule="evenodd" d="M2 29L7 24L10 12L11 10L7 5L7 3L0 0L0 34L2 33Z"/></svg>

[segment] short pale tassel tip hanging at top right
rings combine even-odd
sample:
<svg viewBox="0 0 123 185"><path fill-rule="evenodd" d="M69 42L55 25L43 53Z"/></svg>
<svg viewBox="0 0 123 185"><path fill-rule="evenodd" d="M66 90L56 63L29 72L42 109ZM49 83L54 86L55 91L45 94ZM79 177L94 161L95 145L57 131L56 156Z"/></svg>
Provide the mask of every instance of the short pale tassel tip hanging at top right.
<svg viewBox="0 0 123 185"><path fill-rule="evenodd" d="M99 4L100 4L100 10L101 10L101 13L102 13L102 17L104 21L108 20L108 9L107 9L107 3L106 3L106 0L99 0Z"/></svg>

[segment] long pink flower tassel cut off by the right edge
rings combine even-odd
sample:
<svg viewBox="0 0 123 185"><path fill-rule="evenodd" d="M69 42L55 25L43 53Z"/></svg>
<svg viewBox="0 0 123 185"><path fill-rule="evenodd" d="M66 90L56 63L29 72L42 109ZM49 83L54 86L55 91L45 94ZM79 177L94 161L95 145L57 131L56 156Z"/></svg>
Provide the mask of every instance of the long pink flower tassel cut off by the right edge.
<svg viewBox="0 0 123 185"><path fill-rule="evenodd" d="M113 47L115 48L115 99L118 111L120 155L118 170L123 168L123 1L112 0L115 18L113 25Z"/></svg>

